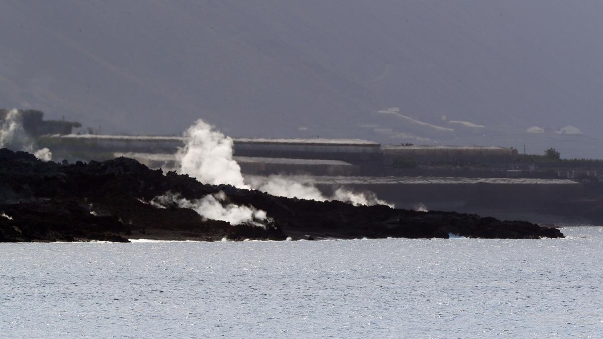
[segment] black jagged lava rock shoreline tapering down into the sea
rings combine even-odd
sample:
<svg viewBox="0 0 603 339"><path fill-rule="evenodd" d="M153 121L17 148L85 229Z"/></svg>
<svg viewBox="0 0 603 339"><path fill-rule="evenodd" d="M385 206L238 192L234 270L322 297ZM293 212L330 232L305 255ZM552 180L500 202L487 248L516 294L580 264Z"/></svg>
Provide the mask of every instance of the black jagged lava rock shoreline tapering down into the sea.
<svg viewBox="0 0 603 339"><path fill-rule="evenodd" d="M266 211L264 226L211 220L177 204L149 203L166 192L188 200L224 192L223 203ZM43 162L0 149L0 242L166 239L562 238L555 228L455 212L274 197L150 170L120 157L75 164Z"/></svg>

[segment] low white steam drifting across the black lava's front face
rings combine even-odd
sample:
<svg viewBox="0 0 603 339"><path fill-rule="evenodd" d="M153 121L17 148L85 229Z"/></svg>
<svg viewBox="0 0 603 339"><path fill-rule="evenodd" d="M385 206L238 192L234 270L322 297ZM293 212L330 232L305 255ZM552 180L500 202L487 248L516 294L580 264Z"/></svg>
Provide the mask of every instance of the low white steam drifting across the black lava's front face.
<svg viewBox="0 0 603 339"><path fill-rule="evenodd" d="M251 226L266 227L265 221L269 221L265 211L253 206L238 206L232 203L224 203L226 194L220 191L216 194L208 194L203 198L188 200L180 194L166 192L153 198L150 203L157 208L166 208L176 204L179 208L189 208L197 212L201 217L227 221L231 225L249 224Z"/></svg>

